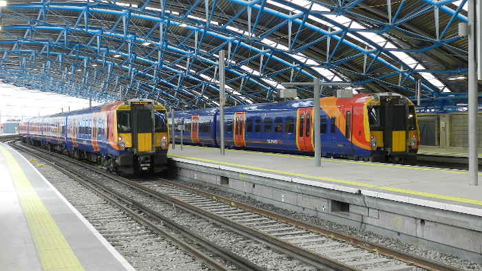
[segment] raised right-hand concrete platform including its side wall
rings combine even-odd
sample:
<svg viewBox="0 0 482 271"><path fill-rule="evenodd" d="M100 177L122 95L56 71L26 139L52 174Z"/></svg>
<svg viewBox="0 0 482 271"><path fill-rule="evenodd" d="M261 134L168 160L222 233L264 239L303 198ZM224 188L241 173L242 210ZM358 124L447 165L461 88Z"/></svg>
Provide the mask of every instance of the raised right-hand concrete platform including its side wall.
<svg viewBox="0 0 482 271"><path fill-rule="evenodd" d="M281 208L371 230L482 263L482 180L468 172L180 145L181 180L203 182ZM479 174L480 176L480 174Z"/></svg>

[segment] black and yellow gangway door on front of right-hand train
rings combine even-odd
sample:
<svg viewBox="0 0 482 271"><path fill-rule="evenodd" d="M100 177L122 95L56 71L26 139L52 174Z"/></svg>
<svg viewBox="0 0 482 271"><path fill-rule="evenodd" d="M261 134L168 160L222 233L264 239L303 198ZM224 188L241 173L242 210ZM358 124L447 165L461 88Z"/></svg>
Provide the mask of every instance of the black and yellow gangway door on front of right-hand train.
<svg viewBox="0 0 482 271"><path fill-rule="evenodd" d="M384 106L384 147L390 153L406 152L407 147L407 105L399 97L388 98Z"/></svg>

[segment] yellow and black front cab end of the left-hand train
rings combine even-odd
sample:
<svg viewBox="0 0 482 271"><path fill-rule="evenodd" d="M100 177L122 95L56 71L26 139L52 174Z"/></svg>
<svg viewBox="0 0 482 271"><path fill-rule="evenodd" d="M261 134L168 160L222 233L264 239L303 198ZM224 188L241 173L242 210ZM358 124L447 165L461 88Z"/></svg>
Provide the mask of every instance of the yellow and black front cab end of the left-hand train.
<svg viewBox="0 0 482 271"><path fill-rule="evenodd" d="M127 100L116 109L116 127L121 151L118 171L160 173L167 169L169 135L165 107L151 100Z"/></svg>

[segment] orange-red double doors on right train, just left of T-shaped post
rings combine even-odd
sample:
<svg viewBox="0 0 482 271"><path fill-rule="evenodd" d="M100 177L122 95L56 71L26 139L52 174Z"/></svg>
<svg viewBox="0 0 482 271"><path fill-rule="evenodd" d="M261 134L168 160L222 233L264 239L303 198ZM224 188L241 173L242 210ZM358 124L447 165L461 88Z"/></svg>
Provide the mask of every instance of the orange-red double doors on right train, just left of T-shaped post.
<svg viewBox="0 0 482 271"><path fill-rule="evenodd" d="M296 138L300 151L313 151L313 108L297 110Z"/></svg>

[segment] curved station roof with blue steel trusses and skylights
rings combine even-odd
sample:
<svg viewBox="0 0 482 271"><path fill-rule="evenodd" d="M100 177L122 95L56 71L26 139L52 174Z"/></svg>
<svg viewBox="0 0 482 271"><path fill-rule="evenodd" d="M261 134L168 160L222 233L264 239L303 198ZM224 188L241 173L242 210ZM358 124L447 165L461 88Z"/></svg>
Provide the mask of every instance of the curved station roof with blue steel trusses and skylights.
<svg viewBox="0 0 482 271"><path fill-rule="evenodd" d="M223 50L228 106L273 101L280 83L314 78L412 100L420 82L424 105L443 106L468 96L468 39L457 28L465 3L0 1L0 78L100 102L121 94L217 107Z"/></svg>

